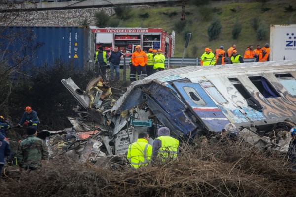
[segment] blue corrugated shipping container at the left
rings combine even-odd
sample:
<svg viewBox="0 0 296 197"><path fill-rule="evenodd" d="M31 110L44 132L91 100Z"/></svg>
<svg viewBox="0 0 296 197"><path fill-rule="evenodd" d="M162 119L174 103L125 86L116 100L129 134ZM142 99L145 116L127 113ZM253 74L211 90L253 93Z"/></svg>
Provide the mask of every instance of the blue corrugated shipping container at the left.
<svg viewBox="0 0 296 197"><path fill-rule="evenodd" d="M57 59L70 62L78 69L94 67L96 38L89 27L1 27L1 29L0 50L4 52L4 57L10 55L10 60L26 56L30 59L27 65L36 67L44 64L52 66ZM24 65L24 68L27 65Z"/></svg>

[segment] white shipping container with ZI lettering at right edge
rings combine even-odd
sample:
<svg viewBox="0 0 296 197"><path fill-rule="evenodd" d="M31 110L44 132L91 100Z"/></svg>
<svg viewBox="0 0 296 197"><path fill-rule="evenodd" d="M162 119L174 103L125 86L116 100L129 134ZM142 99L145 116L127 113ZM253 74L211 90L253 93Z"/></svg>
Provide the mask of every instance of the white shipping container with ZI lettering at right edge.
<svg viewBox="0 0 296 197"><path fill-rule="evenodd" d="M270 25L270 61L296 60L296 25Z"/></svg>

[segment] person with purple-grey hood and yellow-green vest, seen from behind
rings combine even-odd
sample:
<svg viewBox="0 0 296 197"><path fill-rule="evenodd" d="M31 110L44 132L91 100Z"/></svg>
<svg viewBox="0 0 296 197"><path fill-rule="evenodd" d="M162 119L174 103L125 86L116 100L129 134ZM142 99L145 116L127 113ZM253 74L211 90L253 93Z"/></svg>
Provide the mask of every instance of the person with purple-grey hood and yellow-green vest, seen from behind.
<svg viewBox="0 0 296 197"><path fill-rule="evenodd" d="M179 149L179 140L170 136L170 129L161 127L157 131L157 138L153 142L152 160L176 159Z"/></svg>

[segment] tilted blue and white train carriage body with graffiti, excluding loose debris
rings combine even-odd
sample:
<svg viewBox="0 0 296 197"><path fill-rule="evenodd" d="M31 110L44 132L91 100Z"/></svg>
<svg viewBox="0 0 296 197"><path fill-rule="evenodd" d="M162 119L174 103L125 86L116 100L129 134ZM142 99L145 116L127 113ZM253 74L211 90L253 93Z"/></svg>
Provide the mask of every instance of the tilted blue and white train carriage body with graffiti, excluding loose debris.
<svg viewBox="0 0 296 197"><path fill-rule="evenodd" d="M296 61L188 66L136 81L112 108L149 109L175 137L239 130L289 131L296 122ZM155 120L155 119L154 119Z"/></svg>

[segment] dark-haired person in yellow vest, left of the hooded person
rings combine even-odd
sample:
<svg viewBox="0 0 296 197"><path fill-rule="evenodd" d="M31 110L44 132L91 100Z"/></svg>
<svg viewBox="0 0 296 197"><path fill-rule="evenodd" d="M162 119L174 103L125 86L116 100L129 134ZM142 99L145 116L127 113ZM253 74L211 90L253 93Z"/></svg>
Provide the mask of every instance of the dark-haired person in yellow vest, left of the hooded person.
<svg viewBox="0 0 296 197"><path fill-rule="evenodd" d="M148 144L149 134L141 132L138 140L128 146L127 160L133 168L147 166L151 161L152 146Z"/></svg>

